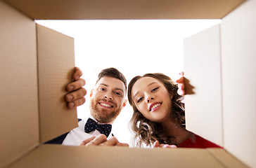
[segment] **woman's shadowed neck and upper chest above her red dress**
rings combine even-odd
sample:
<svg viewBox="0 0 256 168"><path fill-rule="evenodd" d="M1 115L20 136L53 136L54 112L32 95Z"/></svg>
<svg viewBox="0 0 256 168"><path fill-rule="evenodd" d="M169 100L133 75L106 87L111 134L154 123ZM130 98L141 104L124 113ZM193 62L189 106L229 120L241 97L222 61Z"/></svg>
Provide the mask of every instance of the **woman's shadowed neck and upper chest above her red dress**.
<svg viewBox="0 0 256 168"><path fill-rule="evenodd" d="M185 141L193 134L192 132L189 132L188 130L181 127L180 125L177 125L172 120L165 120L161 123L161 125L166 134L174 137L174 144L181 144L181 142Z"/></svg>

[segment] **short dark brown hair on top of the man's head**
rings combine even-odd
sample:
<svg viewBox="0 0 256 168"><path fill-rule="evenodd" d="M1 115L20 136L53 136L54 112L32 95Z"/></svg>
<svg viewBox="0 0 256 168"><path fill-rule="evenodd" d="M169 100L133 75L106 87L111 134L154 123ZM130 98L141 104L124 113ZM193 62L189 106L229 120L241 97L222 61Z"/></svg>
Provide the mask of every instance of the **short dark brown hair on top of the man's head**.
<svg viewBox="0 0 256 168"><path fill-rule="evenodd" d="M125 90L127 90L127 80L124 77L124 75L117 69L115 68L103 69L100 73L98 73L98 80L101 80L101 78L103 78L104 76L117 78L121 80L124 83ZM98 83L98 80L96 81L96 83Z"/></svg>

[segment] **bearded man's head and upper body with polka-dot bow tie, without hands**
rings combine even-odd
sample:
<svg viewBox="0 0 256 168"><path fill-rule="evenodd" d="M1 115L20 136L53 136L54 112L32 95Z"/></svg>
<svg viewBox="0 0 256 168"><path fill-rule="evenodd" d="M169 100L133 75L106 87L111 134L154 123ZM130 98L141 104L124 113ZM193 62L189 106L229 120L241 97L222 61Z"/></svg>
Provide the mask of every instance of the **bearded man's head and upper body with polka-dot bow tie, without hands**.
<svg viewBox="0 0 256 168"><path fill-rule="evenodd" d="M127 80L115 68L103 69L98 74L94 90L90 93L90 116L80 120L78 127L46 144L78 146L81 141L99 134L113 137L112 124L127 103Z"/></svg>

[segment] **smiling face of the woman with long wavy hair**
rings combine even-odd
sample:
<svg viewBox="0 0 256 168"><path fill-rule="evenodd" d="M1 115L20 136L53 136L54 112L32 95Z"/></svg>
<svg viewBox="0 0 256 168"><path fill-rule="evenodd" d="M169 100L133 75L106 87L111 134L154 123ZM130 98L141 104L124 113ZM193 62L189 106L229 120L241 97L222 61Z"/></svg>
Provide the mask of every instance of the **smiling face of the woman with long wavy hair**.
<svg viewBox="0 0 256 168"><path fill-rule="evenodd" d="M132 100L141 114L153 122L169 119L172 103L165 85L156 78L143 77L132 87Z"/></svg>

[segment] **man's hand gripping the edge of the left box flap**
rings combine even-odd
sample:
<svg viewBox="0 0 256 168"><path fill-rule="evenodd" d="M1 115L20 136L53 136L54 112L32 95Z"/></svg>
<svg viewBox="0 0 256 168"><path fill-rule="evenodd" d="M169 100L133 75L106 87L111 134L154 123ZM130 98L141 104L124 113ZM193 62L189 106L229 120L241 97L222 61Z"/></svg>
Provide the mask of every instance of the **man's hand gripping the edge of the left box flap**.
<svg viewBox="0 0 256 168"><path fill-rule="evenodd" d="M66 86L66 89L70 92L65 95L65 100L68 102L69 109L81 106L85 102L84 96L87 94L87 90L83 88L85 80L80 78L80 76L82 76L82 71L75 67L75 73L73 75L75 81Z"/></svg>

